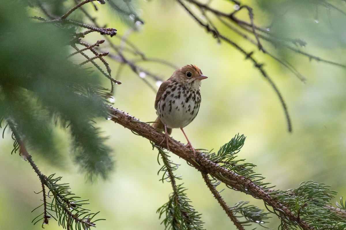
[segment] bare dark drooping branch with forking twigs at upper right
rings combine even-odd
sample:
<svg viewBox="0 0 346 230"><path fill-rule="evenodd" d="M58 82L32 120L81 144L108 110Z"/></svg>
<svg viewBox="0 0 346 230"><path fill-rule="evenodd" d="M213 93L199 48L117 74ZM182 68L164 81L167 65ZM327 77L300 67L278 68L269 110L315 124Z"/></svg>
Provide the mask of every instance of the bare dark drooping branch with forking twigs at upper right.
<svg viewBox="0 0 346 230"><path fill-rule="evenodd" d="M280 48L288 50L291 53L301 54L307 57L310 61L316 60L346 68L346 65L344 63L338 63L335 61L320 58L312 53L304 52L299 48L295 48L293 45L300 47L306 46L306 42L304 42L302 39L277 35L275 33L272 33L270 31L270 28L262 28L258 26L258 20L255 20L254 11L250 5L243 4L238 1L229 1L229 7L223 7L221 9L220 7L218 8L217 4L213 5L215 1L176 0L176 2L178 2L182 6L182 8L199 26L203 27L207 31L207 33L212 34L212 36L218 42L222 41L234 47L244 55L245 59L250 60L254 64L255 68L260 72L264 79L268 81L277 97L279 98L285 114L289 132L292 131L292 125L288 108L282 94L272 80L270 72L267 72L265 70L261 61L258 61L254 58L253 54L255 52L248 51L247 47L245 48L243 45L240 45L240 43L234 40L233 37L230 36L230 34L238 34L243 40L249 41L260 51L260 53L264 53L264 55L267 55L280 63L303 82L305 81L305 78L297 70L297 68L289 63L289 61L285 58L278 57L273 54L272 50L277 49L278 45L280 46ZM327 1L316 1L316 3L312 4L316 4L316 7L318 5L321 5L328 9L333 9L345 15L344 11L338 9L333 5L329 5ZM247 11L247 17L245 17L246 19L242 18L244 14L238 13L244 10ZM199 17L200 15L202 15L203 17ZM220 26L220 23L223 24L223 26L226 26L226 28ZM268 47L268 44L270 45L270 47Z"/></svg>

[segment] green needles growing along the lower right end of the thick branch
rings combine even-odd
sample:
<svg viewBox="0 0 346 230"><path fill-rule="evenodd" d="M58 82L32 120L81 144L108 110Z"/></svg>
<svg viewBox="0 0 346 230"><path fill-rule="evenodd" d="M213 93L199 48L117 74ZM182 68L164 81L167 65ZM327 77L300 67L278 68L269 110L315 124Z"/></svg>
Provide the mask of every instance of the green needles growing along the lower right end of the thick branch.
<svg viewBox="0 0 346 230"><path fill-rule="evenodd" d="M271 190L266 187L267 184L262 180L263 177L260 174L254 172L255 165L252 163L242 163L242 160L236 160L236 154L243 147L245 141L244 135L239 136L237 134L230 142L222 146L217 153L209 154L210 160L214 163L220 164L220 166L237 173L239 176L243 176L246 179L252 180L258 186L268 194L282 203L292 213L307 222L309 226L315 229L338 229L342 230L346 228L346 221L337 215L336 212L327 208L330 205L331 199L337 194L336 191L330 190L329 187L323 183L317 183L315 181L302 182L296 189L290 189L287 191ZM218 186L221 181L213 178L213 185ZM271 187L273 188L273 187ZM247 189L242 189L243 192L253 195ZM242 224L248 224L250 222L265 223L268 219L267 214L263 210L254 207L246 206L248 202L240 201L232 209L233 212L239 213L239 218L245 218L246 220ZM339 204L340 208L344 208L345 204L341 200ZM268 209L268 207L266 206ZM269 209L268 209L269 210ZM273 212L269 210L270 212ZM281 225L279 229L300 229L296 222L285 218L280 209L275 209L274 212L281 219Z"/></svg>

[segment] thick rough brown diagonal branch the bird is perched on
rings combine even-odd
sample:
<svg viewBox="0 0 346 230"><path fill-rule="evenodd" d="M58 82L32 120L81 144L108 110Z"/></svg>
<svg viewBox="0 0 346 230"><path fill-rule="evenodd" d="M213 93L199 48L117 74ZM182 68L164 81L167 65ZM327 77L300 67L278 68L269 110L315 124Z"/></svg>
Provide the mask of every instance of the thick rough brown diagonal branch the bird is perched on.
<svg viewBox="0 0 346 230"><path fill-rule="evenodd" d="M109 110L112 121L138 133L139 136L153 141L157 146L166 148L165 141L160 145L164 138L164 134L162 132L116 108L109 107ZM284 206L284 204L272 198L266 191L257 186L257 184L255 184L253 181L244 178L243 176L239 176L237 173L229 171L221 167L219 164L210 161L205 154L197 152L197 154L194 156L191 151L188 151L182 143L174 140L173 138L169 138L169 148L172 153L186 160L197 170L210 174L212 177L217 178L235 190L246 191L247 194L251 194L253 197L263 200L275 211L281 213L292 222L296 222L302 229L314 229L313 227L309 226L307 222L303 221L293 212L291 212L287 207Z"/></svg>

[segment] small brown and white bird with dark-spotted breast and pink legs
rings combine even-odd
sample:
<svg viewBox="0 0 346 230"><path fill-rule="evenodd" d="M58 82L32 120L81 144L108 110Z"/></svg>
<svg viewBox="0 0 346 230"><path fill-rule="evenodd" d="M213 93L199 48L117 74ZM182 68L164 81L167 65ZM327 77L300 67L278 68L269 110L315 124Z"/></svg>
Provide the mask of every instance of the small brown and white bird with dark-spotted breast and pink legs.
<svg viewBox="0 0 346 230"><path fill-rule="evenodd" d="M157 91L155 99L155 109L157 111L156 123L153 127L165 130L167 150L168 137L172 128L180 128L193 153L195 149L186 136L183 128L193 121L197 116L201 103L200 86L201 80L208 78L195 65L187 65L174 71L172 76L164 81ZM160 144L162 144L162 142Z"/></svg>

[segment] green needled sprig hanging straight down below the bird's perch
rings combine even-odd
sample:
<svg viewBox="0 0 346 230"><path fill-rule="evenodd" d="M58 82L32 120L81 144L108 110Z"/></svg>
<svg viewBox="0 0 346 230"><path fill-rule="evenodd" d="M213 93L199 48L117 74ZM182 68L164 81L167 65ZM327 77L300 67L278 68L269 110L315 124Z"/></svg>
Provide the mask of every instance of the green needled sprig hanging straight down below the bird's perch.
<svg viewBox="0 0 346 230"><path fill-rule="evenodd" d="M163 166L158 171L158 173L163 172L163 176L161 179L162 182L164 180L170 181L173 188L173 192L169 196L169 201L157 210L157 213L160 214L160 219L162 215L165 215L162 221L165 229L203 229L201 214L198 214L198 212L195 211L191 206L191 201L185 193L186 188L184 188L182 184L176 185L175 183L175 179L181 179L173 174L173 171L178 168L178 165L173 163L169 159L169 155L167 155L167 153L165 153L161 148L158 148L158 150L158 157L161 156L163 162Z"/></svg>

